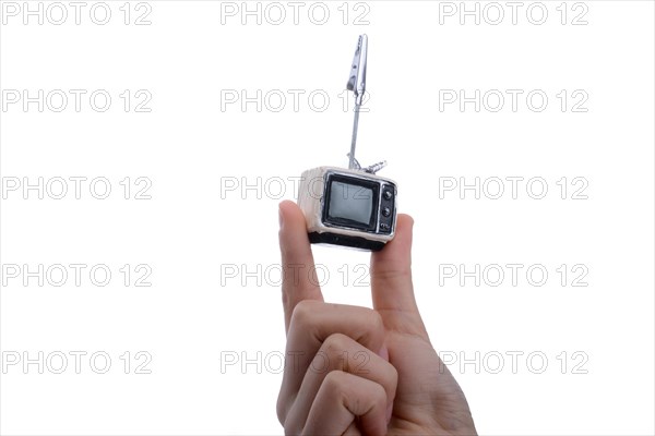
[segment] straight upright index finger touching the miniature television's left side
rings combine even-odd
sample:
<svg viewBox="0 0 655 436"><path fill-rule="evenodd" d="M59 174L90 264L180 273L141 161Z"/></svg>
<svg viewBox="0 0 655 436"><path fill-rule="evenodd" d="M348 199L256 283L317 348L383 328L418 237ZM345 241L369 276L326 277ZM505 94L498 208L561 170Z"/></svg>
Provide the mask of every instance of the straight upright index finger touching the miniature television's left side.
<svg viewBox="0 0 655 436"><path fill-rule="evenodd" d="M302 210L294 202L279 204L279 251L282 254L282 304L288 331L291 313L302 300L323 301Z"/></svg>

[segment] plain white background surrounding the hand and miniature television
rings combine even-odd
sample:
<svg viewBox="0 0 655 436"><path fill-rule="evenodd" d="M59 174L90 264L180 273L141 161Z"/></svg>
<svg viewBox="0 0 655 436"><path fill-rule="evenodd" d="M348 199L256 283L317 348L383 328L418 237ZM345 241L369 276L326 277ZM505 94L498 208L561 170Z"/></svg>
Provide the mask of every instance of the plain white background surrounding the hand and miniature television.
<svg viewBox="0 0 655 436"><path fill-rule="evenodd" d="M360 33L370 38L370 99L357 157L389 161L380 174L398 182L401 211L416 220L417 300L480 434L655 432L653 2L524 2L515 24L505 2L477 3L479 24L460 15L460 2L301 3L297 24L287 2L264 2L258 24L241 2L108 1L105 25L90 16L94 2L79 25L68 2L61 25L50 2L43 24L38 15L24 24L24 3L9 3L0 29L2 434L283 433L276 208L295 197L303 170L347 165L344 88ZM275 24L281 10L286 20ZM150 25L135 25L142 14ZM39 89L43 112L38 102L24 108L23 90ZM46 98L56 89L69 97L61 112L57 93ZM80 111L70 89L86 92ZM112 98L104 112L90 105L97 89ZM444 102L476 89L479 111ZM515 110L507 89L522 93ZM526 102L533 90L548 97L541 111L538 96ZM241 92L254 98L245 108ZM493 111L498 94L504 106ZM136 111L146 95L150 112ZM79 199L71 177L86 178ZM523 178L515 198L513 177ZM23 190L39 178L43 199ZM62 199L57 178L68 181ZM106 199L92 195L104 191L90 191L95 178L109 181ZM458 189L476 178L479 199ZM457 187L440 193L453 180ZM498 180L504 193L493 199ZM148 181L151 199L136 199ZM321 246L314 256L327 301L370 305L356 281L366 284L366 253ZM80 286L71 264L86 265ZM522 265L515 286L508 264ZM25 274L39 265L43 286ZM69 272L60 287L57 265ZM108 284L91 281L94 265L110 269ZM461 274L476 265L478 286ZM499 268L504 280L493 286ZM147 270L152 286L135 286ZM576 284L587 286L573 286L582 275ZM79 374L74 352L86 353ZM93 353L111 359L105 374ZM56 374L62 354L68 366Z"/></svg>

